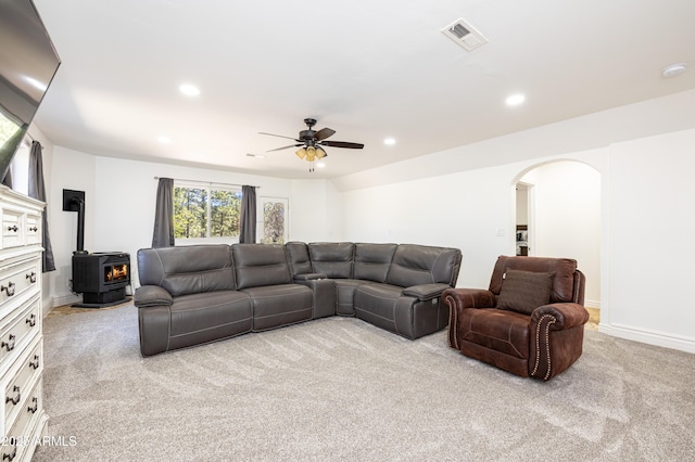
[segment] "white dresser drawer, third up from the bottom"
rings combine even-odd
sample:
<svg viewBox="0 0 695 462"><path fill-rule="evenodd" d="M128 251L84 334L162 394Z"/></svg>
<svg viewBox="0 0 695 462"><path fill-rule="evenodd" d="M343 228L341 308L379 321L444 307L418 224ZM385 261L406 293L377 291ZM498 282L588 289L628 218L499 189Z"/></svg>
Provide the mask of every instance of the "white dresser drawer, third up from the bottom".
<svg viewBox="0 0 695 462"><path fill-rule="evenodd" d="M41 303L38 297L28 300L16 312L20 315L0 330L0 363L13 361L20 356L22 346L41 331Z"/></svg>

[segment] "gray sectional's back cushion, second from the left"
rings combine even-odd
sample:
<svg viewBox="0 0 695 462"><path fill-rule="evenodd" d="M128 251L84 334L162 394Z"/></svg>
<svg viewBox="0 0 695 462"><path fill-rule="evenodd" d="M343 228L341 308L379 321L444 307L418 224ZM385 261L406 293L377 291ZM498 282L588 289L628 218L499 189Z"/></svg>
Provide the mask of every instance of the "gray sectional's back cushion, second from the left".
<svg viewBox="0 0 695 462"><path fill-rule="evenodd" d="M233 244L231 255L239 290L292 282L281 244Z"/></svg>

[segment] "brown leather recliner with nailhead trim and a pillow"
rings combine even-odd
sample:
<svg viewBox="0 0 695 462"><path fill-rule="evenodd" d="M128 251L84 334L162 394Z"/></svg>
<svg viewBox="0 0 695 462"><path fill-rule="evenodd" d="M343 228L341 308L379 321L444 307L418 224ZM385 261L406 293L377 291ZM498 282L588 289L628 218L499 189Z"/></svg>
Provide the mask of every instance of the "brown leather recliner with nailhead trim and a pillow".
<svg viewBox="0 0 695 462"><path fill-rule="evenodd" d="M448 288L450 346L525 377L547 381L582 354L584 274L567 258L507 257L489 290Z"/></svg>

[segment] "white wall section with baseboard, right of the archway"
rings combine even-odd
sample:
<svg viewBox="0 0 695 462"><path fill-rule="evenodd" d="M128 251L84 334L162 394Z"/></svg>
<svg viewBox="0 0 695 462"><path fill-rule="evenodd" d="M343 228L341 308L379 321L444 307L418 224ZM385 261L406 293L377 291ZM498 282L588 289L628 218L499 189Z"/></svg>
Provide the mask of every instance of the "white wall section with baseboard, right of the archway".
<svg viewBox="0 0 695 462"><path fill-rule="evenodd" d="M610 147L605 332L695 352L693 171L695 129Z"/></svg>

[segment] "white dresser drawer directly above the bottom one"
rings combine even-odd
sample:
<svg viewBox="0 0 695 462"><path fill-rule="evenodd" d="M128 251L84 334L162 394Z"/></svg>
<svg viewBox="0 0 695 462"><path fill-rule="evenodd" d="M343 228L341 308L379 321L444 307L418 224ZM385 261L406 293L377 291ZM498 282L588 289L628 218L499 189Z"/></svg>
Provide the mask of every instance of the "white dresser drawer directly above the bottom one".
<svg viewBox="0 0 695 462"><path fill-rule="evenodd" d="M5 428L12 426L12 422L15 421L20 413L21 403L24 401L24 396L34 387L38 376L43 370L41 361L42 351L41 344L39 342L34 345L28 355L23 355L17 362L20 362L18 370L16 367L12 369L14 375L4 387L4 426Z"/></svg>

